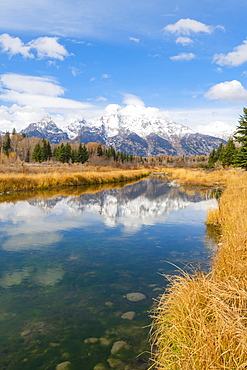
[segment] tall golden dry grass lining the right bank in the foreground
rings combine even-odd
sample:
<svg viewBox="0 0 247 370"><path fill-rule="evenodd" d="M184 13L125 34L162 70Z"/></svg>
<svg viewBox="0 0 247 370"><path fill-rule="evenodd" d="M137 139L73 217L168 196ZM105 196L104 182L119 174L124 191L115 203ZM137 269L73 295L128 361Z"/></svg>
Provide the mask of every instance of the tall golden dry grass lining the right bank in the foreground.
<svg viewBox="0 0 247 370"><path fill-rule="evenodd" d="M247 173L214 176L226 185L208 215L221 228L218 251L210 273L184 273L162 296L152 338L156 369L247 368Z"/></svg>

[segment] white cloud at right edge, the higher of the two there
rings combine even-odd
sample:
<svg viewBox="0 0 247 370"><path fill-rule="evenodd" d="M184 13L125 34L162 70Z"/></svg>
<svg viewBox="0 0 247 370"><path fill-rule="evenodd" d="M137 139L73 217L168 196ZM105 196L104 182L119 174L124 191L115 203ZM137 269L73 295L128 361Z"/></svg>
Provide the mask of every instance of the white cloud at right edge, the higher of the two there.
<svg viewBox="0 0 247 370"><path fill-rule="evenodd" d="M247 62L247 40L228 54L215 54L213 61L220 66L237 67Z"/></svg>

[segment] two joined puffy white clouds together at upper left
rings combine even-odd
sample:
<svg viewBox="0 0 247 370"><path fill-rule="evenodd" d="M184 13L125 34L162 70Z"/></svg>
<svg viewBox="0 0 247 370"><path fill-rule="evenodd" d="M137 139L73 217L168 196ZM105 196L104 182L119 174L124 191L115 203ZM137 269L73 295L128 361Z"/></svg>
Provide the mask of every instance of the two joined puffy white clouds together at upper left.
<svg viewBox="0 0 247 370"><path fill-rule="evenodd" d="M58 37L39 37L24 44L19 37L12 37L7 33L0 35L0 47L3 53L13 55L20 54L25 58L34 58L31 50L36 51L39 59L52 58L64 60L70 54L65 47L58 42Z"/></svg>

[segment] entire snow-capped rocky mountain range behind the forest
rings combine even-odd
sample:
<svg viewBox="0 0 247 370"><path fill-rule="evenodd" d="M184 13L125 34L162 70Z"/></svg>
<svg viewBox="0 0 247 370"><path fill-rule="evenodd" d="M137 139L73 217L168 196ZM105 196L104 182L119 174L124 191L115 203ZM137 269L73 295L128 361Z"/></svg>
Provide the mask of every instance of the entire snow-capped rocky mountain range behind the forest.
<svg viewBox="0 0 247 370"><path fill-rule="evenodd" d="M112 104L104 116L86 121L75 119L59 128L50 116L31 123L21 133L46 138L51 143L64 140L73 142L99 142L116 150L138 155L203 155L209 154L225 141L203 135L187 126L168 121L153 114L123 114Z"/></svg>

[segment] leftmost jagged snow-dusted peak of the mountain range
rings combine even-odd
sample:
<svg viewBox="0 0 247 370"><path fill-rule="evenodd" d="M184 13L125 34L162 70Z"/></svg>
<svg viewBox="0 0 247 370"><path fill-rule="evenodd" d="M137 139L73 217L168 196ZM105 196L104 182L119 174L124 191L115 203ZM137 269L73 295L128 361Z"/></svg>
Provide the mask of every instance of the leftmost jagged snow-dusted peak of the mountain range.
<svg viewBox="0 0 247 370"><path fill-rule="evenodd" d="M68 140L67 133L57 127L50 116L44 116L38 123L31 123L21 131L21 134L34 136L40 139L48 139L51 143L59 143L61 140Z"/></svg>

